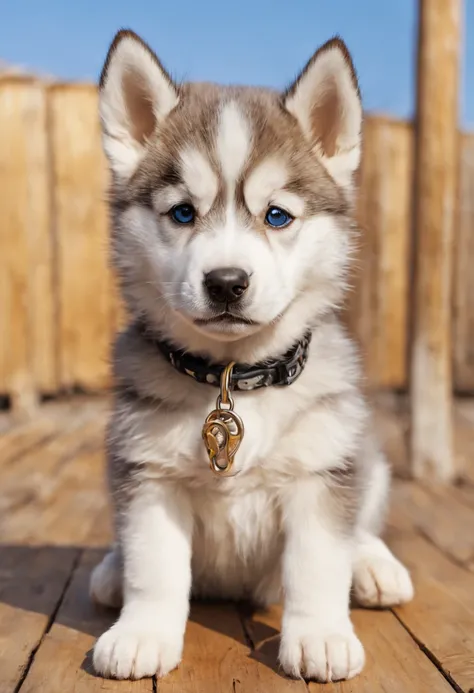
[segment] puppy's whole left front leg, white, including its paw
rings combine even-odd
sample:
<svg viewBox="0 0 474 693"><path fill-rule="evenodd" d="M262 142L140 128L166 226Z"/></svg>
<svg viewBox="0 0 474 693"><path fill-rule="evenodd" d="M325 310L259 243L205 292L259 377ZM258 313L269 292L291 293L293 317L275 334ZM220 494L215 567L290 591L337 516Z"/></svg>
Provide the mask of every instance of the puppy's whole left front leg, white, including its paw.
<svg viewBox="0 0 474 693"><path fill-rule="evenodd" d="M189 499L171 486L136 494L119 515L123 608L94 648L97 673L164 674L180 659L191 587Z"/></svg>

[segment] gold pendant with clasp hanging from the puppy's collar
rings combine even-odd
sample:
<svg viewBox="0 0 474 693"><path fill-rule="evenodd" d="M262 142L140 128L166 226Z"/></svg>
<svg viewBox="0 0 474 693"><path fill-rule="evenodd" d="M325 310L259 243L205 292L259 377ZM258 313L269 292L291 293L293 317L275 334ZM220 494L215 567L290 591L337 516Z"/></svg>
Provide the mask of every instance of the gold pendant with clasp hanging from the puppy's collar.
<svg viewBox="0 0 474 693"><path fill-rule="evenodd" d="M211 411L202 427L209 465L218 476L229 476L235 453L244 437L244 424L234 411L234 400L230 394L230 378L234 365L229 363L222 371L216 408Z"/></svg>

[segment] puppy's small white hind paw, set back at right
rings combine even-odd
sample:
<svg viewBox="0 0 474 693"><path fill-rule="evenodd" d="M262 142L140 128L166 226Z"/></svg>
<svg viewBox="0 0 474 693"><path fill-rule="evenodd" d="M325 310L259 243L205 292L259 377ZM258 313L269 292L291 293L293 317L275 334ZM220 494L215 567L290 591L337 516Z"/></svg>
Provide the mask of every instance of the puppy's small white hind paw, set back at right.
<svg viewBox="0 0 474 693"><path fill-rule="evenodd" d="M361 606L396 606L413 598L410 573L394 557L362 556L354 564L352 587Z"/></svg>

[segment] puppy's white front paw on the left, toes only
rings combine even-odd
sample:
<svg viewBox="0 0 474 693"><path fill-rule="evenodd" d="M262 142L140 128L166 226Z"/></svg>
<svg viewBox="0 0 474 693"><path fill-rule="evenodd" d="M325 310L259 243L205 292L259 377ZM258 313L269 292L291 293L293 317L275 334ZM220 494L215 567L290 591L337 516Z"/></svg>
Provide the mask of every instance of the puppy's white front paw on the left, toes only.
<svg viewBox="0 0 474 693"><path fill-rule="evenodd" d="M151 626L149 619L120 618L96 642L93 663L106 678L164 676L178 666L182 650L182 629Z"/></svg>

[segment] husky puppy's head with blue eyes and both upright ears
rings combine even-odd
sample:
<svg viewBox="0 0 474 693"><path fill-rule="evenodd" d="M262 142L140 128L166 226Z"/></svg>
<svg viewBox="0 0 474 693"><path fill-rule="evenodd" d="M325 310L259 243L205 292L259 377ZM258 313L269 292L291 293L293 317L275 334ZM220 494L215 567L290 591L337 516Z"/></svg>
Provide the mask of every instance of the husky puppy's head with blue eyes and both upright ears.
<svg viewBox="0 0 474 693"><path fill-rule="evenodd" d="M178 87L122 32L102 74L100 111L114 260L132 311L237 340L340 300L361 128L340 41L278 94Z"/></svg>

